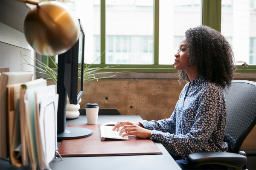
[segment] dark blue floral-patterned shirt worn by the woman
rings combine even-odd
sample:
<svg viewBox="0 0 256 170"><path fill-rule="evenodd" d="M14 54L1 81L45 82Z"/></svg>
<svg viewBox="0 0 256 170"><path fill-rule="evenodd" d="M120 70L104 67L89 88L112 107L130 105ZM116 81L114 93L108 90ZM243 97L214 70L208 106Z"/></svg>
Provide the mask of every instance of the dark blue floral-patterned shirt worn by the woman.
<svg viewBox="0 0 256 170"><path fill-rule="evenodd" d="M226 102L223 88L201 76L185 85L169 119L141 121L151 139L180 156L200 151L227 152L223 142ZM189 89L188 89L189 88Z"/></svg>

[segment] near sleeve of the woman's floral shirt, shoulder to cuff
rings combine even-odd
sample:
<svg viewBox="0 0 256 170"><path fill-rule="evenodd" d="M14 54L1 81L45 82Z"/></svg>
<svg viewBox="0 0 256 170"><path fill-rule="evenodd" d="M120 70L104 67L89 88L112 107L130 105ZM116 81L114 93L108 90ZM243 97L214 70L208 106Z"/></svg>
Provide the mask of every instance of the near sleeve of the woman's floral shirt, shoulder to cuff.
<svg viewBox="0 0 256 170"><path fill-rule="evenodd" d="M175 135L161 131L158 127L152 129L151 139L161 142L166 150L180 156L201 151L218 124L220 102L221 98L216 90L206 90L199 100L195 122L189 133Z"/></svg>

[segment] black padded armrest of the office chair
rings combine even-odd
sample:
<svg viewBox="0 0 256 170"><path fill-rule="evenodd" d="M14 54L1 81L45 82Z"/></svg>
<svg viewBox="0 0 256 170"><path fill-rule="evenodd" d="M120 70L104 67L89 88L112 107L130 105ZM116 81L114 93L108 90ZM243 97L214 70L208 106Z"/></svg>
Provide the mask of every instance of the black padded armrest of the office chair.
<svg viewBox="0 0 256 170"><path fill-rule="evenodd" d="M228 167L242 167L247 157L229 152L195 152L188 156L188 162L194 167L202 164L221 164Z"/></svg>

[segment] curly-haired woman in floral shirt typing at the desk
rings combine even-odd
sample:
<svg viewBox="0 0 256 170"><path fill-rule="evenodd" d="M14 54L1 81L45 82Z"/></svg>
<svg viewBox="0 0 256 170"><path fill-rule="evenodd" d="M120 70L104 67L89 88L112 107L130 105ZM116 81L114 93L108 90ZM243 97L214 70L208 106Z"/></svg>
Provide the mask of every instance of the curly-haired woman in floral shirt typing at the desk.
<svg viewBox="0 0 256 170"><path fill-rule="evenodd" d="M169 119L159 121L118 122L122 136L136 135L161 142L182 169L225 169L207 164L192 167L186 161L190 153L227 152L223 141L226 102L223 93L234 78L236 67L230 44L208 26L186 31L175 54L179 81L187 81Z"/></svg>

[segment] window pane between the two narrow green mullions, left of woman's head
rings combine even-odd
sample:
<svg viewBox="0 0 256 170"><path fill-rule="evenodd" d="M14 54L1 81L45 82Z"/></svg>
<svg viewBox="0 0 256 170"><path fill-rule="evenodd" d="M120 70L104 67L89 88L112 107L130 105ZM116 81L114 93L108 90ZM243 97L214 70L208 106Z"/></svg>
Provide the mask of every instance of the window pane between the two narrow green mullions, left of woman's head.
<svg viewBox="0 0 256 170"><path fill-rule="evenodd" d="M106 64L153 64L153 0L106 0Z"/></svg>

